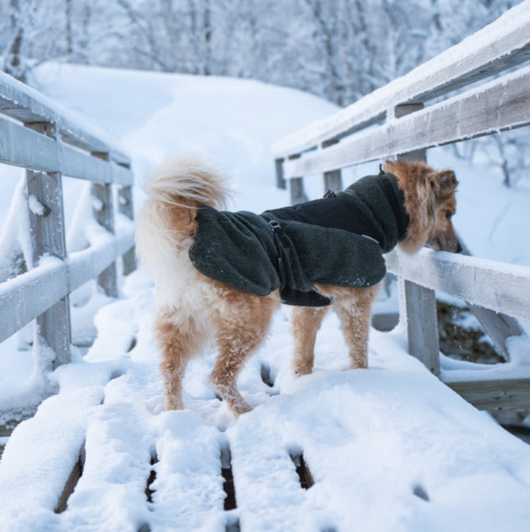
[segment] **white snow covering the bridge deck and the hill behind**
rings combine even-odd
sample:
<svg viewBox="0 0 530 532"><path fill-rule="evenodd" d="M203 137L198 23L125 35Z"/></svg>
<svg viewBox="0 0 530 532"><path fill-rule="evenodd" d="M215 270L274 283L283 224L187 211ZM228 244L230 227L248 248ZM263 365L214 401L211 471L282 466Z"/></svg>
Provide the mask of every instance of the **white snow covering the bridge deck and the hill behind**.
<svg viewBox="0 0 530 532"><path fill-rule="evenodd" d="M199 151L234 177L232 207L258 212L288 203L287 192L275 188L271 143L335 110L308 94L239 79L43 65L37 82L81 113L81 122L122 143L139 183L164 157ZM433 150L429 160L456 168L455 223L470 250L530 265L530 249L520 244L529 192L503 189L491 169L446 150ZM364 165L344 180L377 168ZM17 172L6 173L1 186L9 181L14 189ZM67 184L69 221L82 186ZM310 196L321 187L320 179L308 182ZM9 187L2 191L0 223L11 197ZM135 192L140 204L140 188ZM88 304L73 311L74 340L90 336L96 313L96 341L84 358L50 375L59 393L9 439L0 461L0 531L225 531L237 521L242 531L266 532L528 530L530 448L410 358L399 327L371 331L370 369L344 371L346 350L330 314L315 373L295 380L282 309L239 379L256 409L235 420L208 383L215 353L188 368L186 411L163 411L144 271L126 279L118 301L92 287L76 298ZM0 409L36 401L39 384L30 352L17 352L14 339L1 344ZM56 514L80 450L83 475L67 511ZM221 476L227 450L237 499L228 512ZM291 459L300 454L315 481L307 490Z"/></svg>

